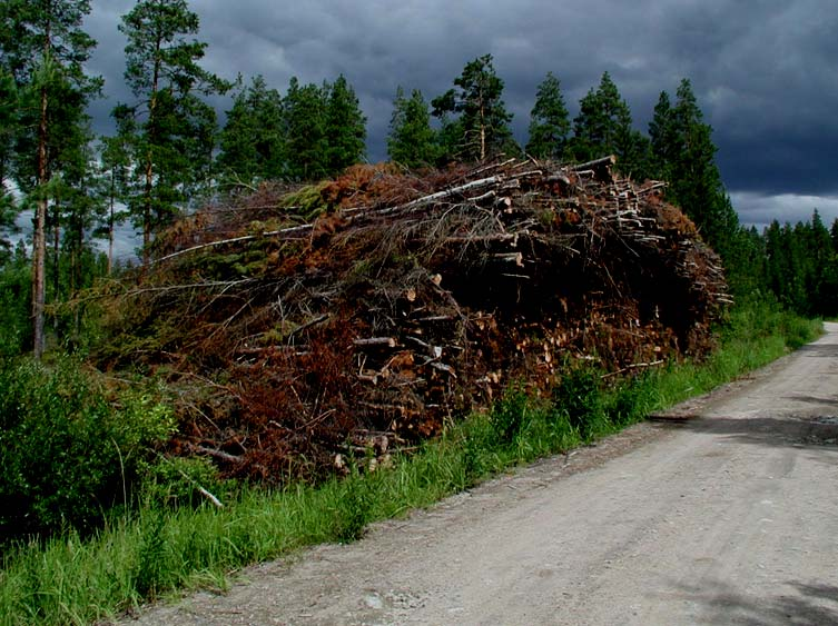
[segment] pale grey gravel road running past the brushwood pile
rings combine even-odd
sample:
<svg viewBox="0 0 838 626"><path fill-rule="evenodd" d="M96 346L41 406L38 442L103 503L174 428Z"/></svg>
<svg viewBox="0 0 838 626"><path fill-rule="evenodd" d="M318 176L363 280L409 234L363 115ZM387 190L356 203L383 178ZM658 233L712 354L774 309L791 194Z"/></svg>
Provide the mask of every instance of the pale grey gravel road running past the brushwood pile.
<svg viewBox="0 0 838 626"><path fill-rule="evenodd" d="M838 624L838 325L746 380L141 625Z"/></svg>

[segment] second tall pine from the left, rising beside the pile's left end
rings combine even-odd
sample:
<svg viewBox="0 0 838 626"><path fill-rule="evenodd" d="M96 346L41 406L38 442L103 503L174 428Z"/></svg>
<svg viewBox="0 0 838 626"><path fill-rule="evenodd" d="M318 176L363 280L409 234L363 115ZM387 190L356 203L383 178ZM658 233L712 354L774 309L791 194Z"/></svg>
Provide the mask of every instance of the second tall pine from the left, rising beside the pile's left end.
<svg viewBox="0 0 838 626"><path fill-rule="evenodd" d="M198 96L230 87L198 64L206 43L187 39L198 29L186 0L139 0L119 26L128 39L125 78L137 101L117 107L114 116L135 132L142 186L130 207L142 227L144 262L152 232L209 173L215 112Z"/></svg>

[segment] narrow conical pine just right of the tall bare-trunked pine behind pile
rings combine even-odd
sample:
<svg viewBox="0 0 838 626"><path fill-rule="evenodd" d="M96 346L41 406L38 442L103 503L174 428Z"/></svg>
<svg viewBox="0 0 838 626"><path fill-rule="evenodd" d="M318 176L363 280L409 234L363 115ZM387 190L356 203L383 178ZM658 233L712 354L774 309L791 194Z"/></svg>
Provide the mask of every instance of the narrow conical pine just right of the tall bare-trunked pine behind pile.
<svg viewBox="0 0 838 626"><path fill-rule="evenodd" d="M539 85L535 105L530 113L530 140L526 152L536 159L555 159L564 157L570 135L570 118L564 105L561 82L548 72Z"/></svg>

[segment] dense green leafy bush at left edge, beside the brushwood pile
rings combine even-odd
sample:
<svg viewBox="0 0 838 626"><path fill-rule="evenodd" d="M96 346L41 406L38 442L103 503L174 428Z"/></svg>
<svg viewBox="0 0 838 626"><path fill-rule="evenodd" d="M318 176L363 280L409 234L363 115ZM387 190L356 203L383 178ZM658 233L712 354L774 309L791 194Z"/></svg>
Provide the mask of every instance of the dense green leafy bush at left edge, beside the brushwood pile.
<svg viewBox="0 0 838 626"><path fill-rule="evenodd" d="M172 427L151 395L109 398L76 359L0 362L0 539L92 528Z"/></svg>

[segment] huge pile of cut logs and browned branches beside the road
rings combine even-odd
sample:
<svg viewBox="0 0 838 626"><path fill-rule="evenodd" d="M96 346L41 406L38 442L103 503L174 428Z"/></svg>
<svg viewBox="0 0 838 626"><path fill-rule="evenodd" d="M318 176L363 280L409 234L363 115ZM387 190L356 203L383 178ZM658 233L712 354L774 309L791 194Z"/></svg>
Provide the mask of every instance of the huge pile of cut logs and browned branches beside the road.
<svg viewBox="0 0 838 626"><path fill-rule="evenodd" d="M96 357L176 389L171 454L228 476L323 476L570 361L604 376L713 347L719 259L613 158L263 185L158 238L108 287Z"/></svg>

